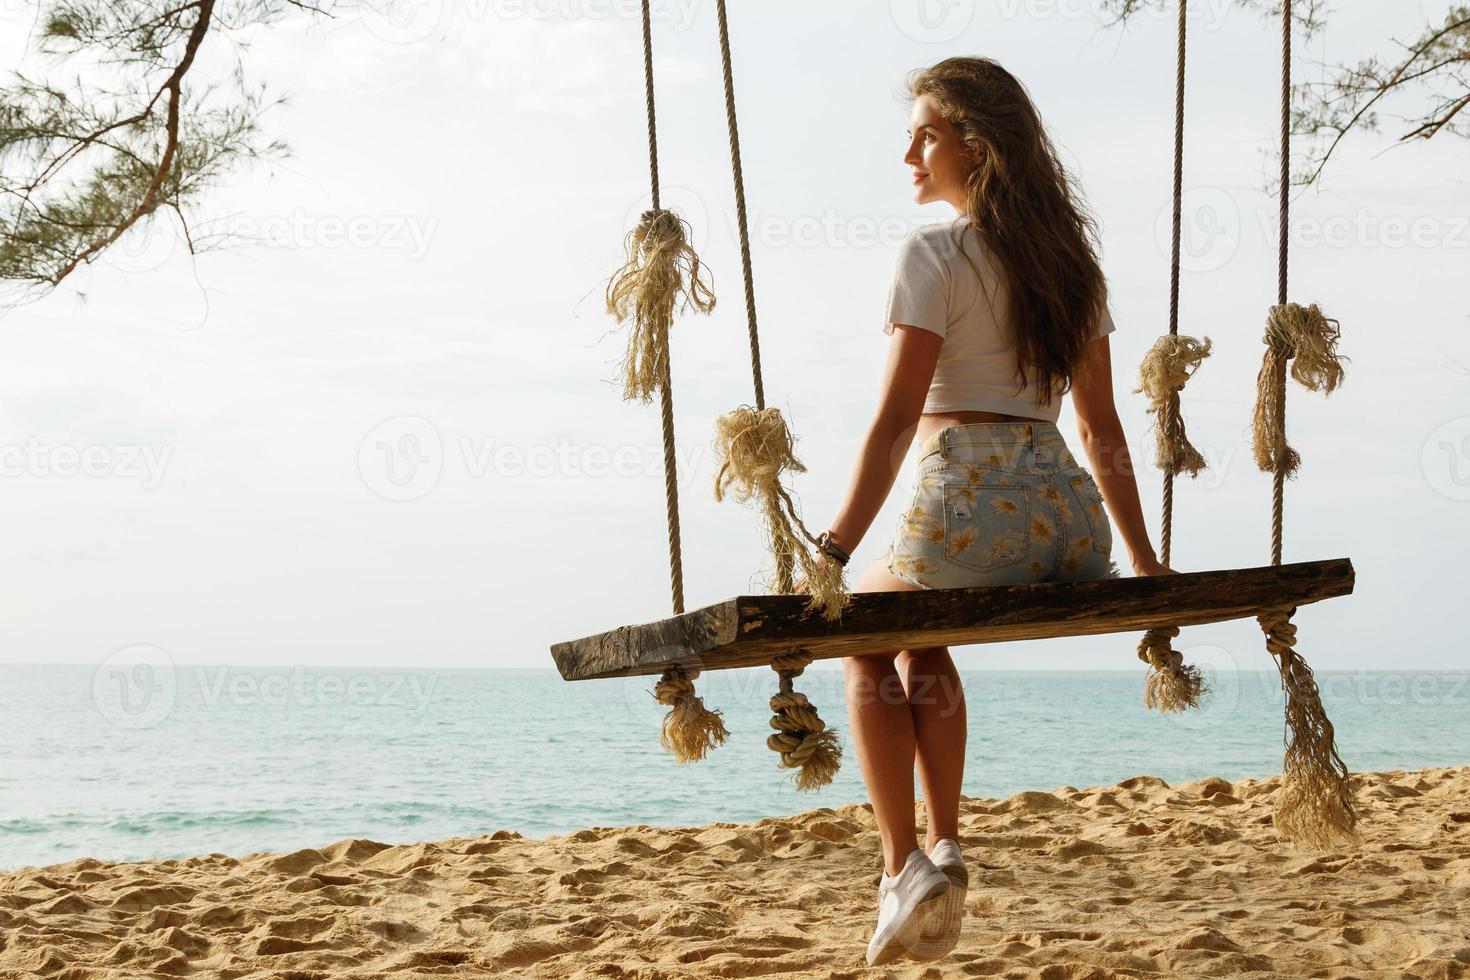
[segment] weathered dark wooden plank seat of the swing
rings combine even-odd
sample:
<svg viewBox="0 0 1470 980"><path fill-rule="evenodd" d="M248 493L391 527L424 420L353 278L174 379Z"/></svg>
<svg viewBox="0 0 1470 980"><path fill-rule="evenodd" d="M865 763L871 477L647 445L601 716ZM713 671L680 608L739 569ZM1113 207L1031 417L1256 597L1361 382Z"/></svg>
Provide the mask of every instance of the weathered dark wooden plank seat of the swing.
<svg viewBox="0 0 1470 980"><path fill-rule="evenodd" d="M839 623L800 595L739 595L673 619L620 626L551 646L566 680L657 674L681 664L764 666L806 649L816 660L914 646L994 644L1197 626L1352 592L1348 558L1254 569L973 589L857 592Z"/></svg>

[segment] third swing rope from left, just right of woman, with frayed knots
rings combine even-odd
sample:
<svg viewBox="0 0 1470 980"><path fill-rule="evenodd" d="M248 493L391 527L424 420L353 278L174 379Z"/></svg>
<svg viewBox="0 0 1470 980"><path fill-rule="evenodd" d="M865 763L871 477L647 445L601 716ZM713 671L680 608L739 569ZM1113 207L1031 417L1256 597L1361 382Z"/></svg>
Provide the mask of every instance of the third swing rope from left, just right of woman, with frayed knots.
<svg viewBox="0 0 1470 980"><path fill-rule="evenodd" d="M1185 48L1189 37L1189 1L1179 0L1179 50L1175 71L1175 210L1173 250L1169 260L1169 334L1160 336L1144 354L1139 364L1139 386L1133 394L1148 397L1148 411L1154 416L1154 463L1164 473L1164 517L1160 538L1160 561L1169 564L1175 529L1175 476L1198 476L1205 469L1204 457L1185 433L1179 410L1179 392L1210 356L1210 338L1204 342L1179 335L1179 266L1180 223L1183 217L1185 181ZM1177 626L1155 626L1138 642L1138 658L1148 664L1144 680L1144 705L1163 714L1198 708L1208 693L1198 667L1186 666L1185 657L1173 648Z"/></svg>

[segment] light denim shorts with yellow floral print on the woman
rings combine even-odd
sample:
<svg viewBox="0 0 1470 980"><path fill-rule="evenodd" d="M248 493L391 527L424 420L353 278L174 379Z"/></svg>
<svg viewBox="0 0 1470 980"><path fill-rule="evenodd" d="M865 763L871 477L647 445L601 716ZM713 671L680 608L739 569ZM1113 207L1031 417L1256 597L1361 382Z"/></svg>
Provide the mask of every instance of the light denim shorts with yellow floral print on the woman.
<svg viewBox="0 0 1470 980"><path fill-rule="evenodd" d="M888 570L925 589L1117 577L1092 475L1055 423L975 422L933 433Z"/></svg>

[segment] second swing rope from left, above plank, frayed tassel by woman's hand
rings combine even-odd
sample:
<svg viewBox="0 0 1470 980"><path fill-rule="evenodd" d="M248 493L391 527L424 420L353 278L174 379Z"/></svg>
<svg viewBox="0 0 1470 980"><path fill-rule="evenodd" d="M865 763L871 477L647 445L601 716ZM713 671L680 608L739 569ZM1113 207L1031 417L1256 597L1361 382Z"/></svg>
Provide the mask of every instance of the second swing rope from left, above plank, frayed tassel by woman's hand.
<svg viewBox="0 0 1470 980"><path fill-rule="evenodd" d="M769 586L775 592L792 592L794 572L801 567L807 579L808 611L820 610L823 619L839 620L851 597L842 577L842 567L833 561L819 560L814 550L816 536L807 530L797 514L795 502L782 489L786 472L804 472L791 451L795 438L786 426L779 408L766 407L766 391L760 376L760 335L756 329L756 284L750 264L750 229L745 219L745 173L739 162L739 123L735 118L735 78L731 66L729 22L725 16L725 0L717 0L716 12L720 29L720 62L725 69L725 120L731 138L731 172L735 178L735 212L739 217L739 254L745 278L745 322L750 331L750 366L756 386L756 404L741 406L716 423L716 454L723 463L714 480L714 498L723 500L725 486L736 483L742 492L738 500L757 494L761 500L766 530L770 536L770 554L776 569Z"/></svg>

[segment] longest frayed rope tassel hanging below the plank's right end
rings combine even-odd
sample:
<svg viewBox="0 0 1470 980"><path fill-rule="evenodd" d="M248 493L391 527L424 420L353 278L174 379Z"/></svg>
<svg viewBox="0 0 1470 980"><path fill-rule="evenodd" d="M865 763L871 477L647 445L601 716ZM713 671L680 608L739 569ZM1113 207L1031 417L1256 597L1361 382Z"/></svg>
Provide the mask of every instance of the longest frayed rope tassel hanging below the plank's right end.
<svg viewBox="0 0 1470 980"><path fill-rule="evenodd" d="M1297 626L1291 621L1295 611L1295 607L1269 610L1255 617L1286 692L1286 757L1274 823L1277 833L1298 846L1332 851L1358 843L1358 815L1348 767L1333 743L1317 682L1295 649Z"/></svg>

